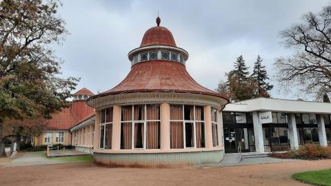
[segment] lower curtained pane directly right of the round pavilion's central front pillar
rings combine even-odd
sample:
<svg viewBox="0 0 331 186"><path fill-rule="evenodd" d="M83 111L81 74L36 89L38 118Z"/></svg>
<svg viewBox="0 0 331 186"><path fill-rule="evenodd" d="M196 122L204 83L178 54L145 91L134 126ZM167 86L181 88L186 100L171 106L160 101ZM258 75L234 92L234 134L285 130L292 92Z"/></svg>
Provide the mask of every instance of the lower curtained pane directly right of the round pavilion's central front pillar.
<svg viewBox="0 0 331 186"><path fill-rule="evenodd" d="M170 121L170 148L183 149L183 122Z"/></svg>

